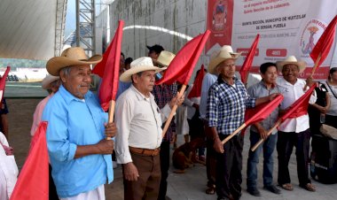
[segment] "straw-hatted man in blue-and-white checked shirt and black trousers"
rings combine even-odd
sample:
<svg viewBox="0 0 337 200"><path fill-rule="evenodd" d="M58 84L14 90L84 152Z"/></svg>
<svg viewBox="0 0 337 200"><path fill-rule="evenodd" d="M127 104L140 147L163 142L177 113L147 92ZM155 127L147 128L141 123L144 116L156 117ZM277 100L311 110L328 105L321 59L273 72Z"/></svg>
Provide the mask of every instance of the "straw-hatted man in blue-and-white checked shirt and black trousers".
<svg viewBox="0 0 337 200"><path fill-rule="evenodd" d="M209 88L207 120L216 149L217 199L239 199L242 182L243 136L235 135L229 142L221 141L244 123L246 107L254 107L272 100L276 95L252 98L244 84L235 77L235 61L240 53L224 45L210 59L208 72L219 74Z"/></svg>

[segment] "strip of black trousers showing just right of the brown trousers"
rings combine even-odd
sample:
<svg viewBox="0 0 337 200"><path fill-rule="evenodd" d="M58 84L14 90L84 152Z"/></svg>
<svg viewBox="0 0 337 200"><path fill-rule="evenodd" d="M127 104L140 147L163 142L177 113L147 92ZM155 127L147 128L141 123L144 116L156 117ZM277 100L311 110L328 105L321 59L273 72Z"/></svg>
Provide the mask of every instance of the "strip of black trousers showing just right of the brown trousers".
<svg viewBox="0 0 337 200"><path fill-rule="evenodd" d="M159 188L158 200L165 200L166 192L168 190L168 176L169 176L169 141L161 142L161 185Z"/></svg>

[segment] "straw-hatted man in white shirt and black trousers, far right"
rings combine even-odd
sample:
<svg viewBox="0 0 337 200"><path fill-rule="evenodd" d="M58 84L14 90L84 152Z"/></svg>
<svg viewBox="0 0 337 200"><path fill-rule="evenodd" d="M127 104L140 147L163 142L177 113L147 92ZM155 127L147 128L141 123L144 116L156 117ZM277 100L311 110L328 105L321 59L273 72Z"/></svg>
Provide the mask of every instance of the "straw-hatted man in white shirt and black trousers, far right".
<svg viewBox="0 0 337 200"><path fill-rule="evenodd" d="M306 81L298 79L299 73L302 73L306 67L303 61L297 61L294 56L290 56L283 61L276 63L278 71L282 72L283 77L278 79L277 83L280 87L280 92L284 96L283 102L280 104L280 113L304 95L305 86L313 84L312 78ZM308 88L308 87L307 87ZM305 88L305 89L307 89ZM315 94L310 96L310 104L314 104L317 98ZM291 184L288 163L293 152L293 147L296 147L297 174L300 181L300 187L309 191L315 191L316 188L311 184L308 172L309 148L310 148L310 128L308 114L286 119L278 127L278 184L286 190L293 190Z"/></svg>

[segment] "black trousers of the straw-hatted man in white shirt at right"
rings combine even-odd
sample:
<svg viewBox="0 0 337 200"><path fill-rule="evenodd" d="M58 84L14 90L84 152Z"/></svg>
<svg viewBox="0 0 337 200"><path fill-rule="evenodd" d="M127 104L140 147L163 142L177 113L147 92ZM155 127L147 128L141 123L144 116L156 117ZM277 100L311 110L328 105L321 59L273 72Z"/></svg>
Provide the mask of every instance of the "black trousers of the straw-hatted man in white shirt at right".
<svg viewBox="0 0 337 200"><path fill-rule="evenodd" d="M310 148L310 129L300 133L278 132L278 184L290 183L289 159L293 148L296 148L297 175L301 186L310 183L309 179L309 148Z"/></svg>

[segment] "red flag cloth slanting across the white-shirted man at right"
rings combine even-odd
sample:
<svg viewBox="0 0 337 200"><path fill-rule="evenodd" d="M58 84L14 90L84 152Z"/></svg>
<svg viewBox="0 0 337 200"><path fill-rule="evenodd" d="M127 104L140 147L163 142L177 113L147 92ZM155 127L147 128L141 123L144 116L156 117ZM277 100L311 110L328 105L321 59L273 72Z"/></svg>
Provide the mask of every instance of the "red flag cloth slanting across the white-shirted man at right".
<svg viewBox="0 0 337 200"><path fill-rule="evenodd" d="M308 91L304 93L299 99L297 99L292 105L286 109L286 113L283 114L280 119L284 121L289 118L298 118L308 113L308 105L312 92L316 88L316 84L313 84Z"/></svg>

